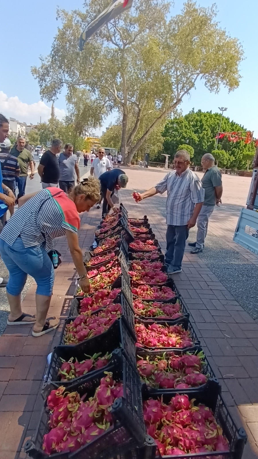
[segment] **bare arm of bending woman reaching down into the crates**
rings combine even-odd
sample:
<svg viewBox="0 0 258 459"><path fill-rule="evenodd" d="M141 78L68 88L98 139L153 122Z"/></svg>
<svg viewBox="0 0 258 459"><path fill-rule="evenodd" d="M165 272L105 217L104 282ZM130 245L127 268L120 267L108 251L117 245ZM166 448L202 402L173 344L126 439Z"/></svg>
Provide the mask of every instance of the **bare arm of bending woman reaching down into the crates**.
<svg viewBox="0 0 258 459"><path fill-rule="evenodd" d="M79 281L81 289L84 291L84 293L90 293L90 281L88 279L87 271L84 266L83 254L79 247L78 235L73 233L72 231L69 231L69 229L66 229L65 233L75 268L77 269L77 272L80 277L85 276L83 280Z"/></svg>

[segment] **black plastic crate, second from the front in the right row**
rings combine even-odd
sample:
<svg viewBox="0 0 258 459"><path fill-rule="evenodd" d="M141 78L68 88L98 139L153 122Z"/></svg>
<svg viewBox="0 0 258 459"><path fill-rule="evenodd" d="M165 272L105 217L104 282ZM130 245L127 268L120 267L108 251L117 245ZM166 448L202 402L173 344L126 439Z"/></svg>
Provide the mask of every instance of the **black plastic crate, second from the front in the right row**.
<svg viewBox="0 0 258 459"><path fill-rule="evenodd" d="M190 351L188 351L188 353L191 353L191 354L198 354L202 351L202 347L200 346L195 346L193 347ZM176 355L184 355L185 352L181 351L180 349L176 349L173 351L174 354ZM136 351L136 361L138 361L139 359L137 358L137 356L143 358L144 360L146 360L146 358L155 358L156 356L158 357L162 357L162 358L166 358L166 357L169 357L169 354L170 352L162 352L162 351L159 351L159 350L155 350L155 351L146 351L144 349L140 349L139 347L137 348L137 351ZM211 368L210 364L209 364L209 361L207 359L207 357L205 356L203 359L202 359L202 371L201 373L203 375L208 375L208 378L212 378L214 381L217 381L216 379L216 376L215 376L215 373L213 371L213 369ZM208 380L209 381L209 380ZM166 394L166 393L173 393L176 394L176 393L181 393L181 394L184 394L185 391L191 393L191 392L202 392L208 385L208 381L205 383L205 384L202 384L201 386L198 386L198 387L189 387L187 389L164 389L164 388L161 388L161 389L158 389L158 388L154 388L150 385L148 385L146 383L146 386L147 386L147 389L149 391L151 391L151 393L157 393L158 397L161 397L163 394Z"/></svg>

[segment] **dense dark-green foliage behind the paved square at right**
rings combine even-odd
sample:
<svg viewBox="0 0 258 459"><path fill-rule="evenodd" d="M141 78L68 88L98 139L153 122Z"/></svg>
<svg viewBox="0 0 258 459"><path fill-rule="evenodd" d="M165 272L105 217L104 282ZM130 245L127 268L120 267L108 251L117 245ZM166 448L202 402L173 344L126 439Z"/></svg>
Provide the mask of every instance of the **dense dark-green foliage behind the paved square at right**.
<svg viewBox="0 0 258 459"><path fill-rule="evenodd" d="M221 119L220 113L195 112L191 110L187 115L168 120L163 130L163 151L174 157L174 154L182 144L187 144L194 149L193 162L200 165L201 158L205 153L211 153L216 146L216 135L219 130ZM221 132L247 131L240 124L222 118ZM252 161L255 155L254 142L245 144L243 140L236 143L227 138L219 140L218 150L224 150L229 154L225 161L230 168L246 168L247 161Z"/></svg>

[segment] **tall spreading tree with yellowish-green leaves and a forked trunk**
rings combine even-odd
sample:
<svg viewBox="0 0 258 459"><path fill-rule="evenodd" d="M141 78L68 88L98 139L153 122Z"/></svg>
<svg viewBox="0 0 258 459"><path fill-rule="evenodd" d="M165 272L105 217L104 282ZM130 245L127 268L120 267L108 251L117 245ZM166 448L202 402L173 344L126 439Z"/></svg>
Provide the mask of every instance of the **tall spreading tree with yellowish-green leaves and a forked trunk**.
<svg viewBox="0 0 258 459"><path fill-rule="evenodd" d="M198 78L210 91L218 92L221 85L237 88L243 51L237 39L219 28L214 6L201 8L187 0L182 13L170 17L170 2L135 0L130 11L103 27L80 52L82 29L108 3L85 0L85 14L58 10L62 25L50 55L32 73L47 101L55 100L64 86L68 96L83 88L90 91L92 106L99 103L100 120L103 113L118 110L127 163Z"/></svg>

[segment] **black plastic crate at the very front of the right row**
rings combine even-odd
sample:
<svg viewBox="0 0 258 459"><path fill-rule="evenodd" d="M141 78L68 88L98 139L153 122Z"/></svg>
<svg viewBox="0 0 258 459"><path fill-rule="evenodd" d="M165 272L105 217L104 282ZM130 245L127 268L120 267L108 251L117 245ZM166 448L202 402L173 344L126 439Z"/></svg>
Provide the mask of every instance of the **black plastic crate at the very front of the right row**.
<svg viewBox="0 0 258 459"><path fill-rule="evenodd" d="M156 447L156 451L153 447L151 448L151 453L149 453L148 458L165 458L165 459L241 459L244 446L247 442L247 434L243 427L237 428L235 421L233 420L227 406L224 402L223 397L221 396L221 387L217 381L209 380L207 387L202 392L189 392L188 389L184 392L186 395L189 395L189 399L195 398L195 405L202 403L206 405L213 411L215 420L223 430L223 435L229 441L229 452L218 451L207 451L207 453L193 453L193 454L182 454L182 455L173 455L173 456L162 456L159 450ZM171 398L175 396L174 392L164 393L163 402L169 403ZM160 395L157 393L149 391L147 387L143 386L142 398L147 400L148 398L160 398Z"/></svg>

